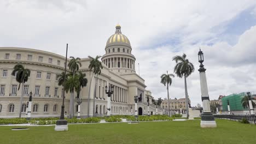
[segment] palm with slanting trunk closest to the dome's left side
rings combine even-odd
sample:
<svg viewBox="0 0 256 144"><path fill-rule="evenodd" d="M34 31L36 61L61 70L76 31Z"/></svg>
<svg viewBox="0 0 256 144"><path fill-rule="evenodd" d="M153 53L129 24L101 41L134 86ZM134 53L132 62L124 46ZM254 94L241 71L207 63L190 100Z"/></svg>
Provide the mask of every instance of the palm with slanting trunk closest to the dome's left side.
<svg viewBox="0 0 256 144"><path fill-rule="evenodd" d="M92 78L94 77L94 75L96 75L96 83L95 83L95 88L94 88L94 109L93 109L93 116L94 116L94 111L95 111L95 97L96 97L96 85L97 85L97 78L98 75L101 74L101 69L103 69L103 66L101 64L101 62L98 60L99 58L101 58L101 56L96 56L96 58L93 58L91 56L88 56L91 61L89 64L89 69L93 71L92 76L91 76L91 82L92 82ZM88 117L89 117L89 104L90 104L90 94L91 94L91 82L90 82L90 86L89 86L89 94L88 94Z"/></svg>

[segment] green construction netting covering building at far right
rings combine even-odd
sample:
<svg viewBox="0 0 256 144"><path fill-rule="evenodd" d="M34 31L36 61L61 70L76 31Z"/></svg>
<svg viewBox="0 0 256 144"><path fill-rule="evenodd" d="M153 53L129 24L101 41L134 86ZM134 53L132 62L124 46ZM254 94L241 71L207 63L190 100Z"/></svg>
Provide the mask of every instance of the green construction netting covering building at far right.
<svg viewBox="0 0 256 144"><path fill-rule="evenodd" d="M222 107L223 111L228 111L228 100L229 100L229 106L230 111L244 111L248 109L244 109L241 100L243 97L245 97L246 93L238 93L238 94L230 94L226 97L222 98Z"/></svg>

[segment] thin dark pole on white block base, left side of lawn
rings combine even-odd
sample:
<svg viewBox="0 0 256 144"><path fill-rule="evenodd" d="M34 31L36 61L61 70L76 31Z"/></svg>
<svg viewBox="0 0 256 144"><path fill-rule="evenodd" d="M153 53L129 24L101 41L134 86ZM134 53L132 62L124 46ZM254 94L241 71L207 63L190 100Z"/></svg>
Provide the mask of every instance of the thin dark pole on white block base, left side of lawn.
<svg viewBox="0 0 256 144"><path fill-rule="evenodd" d="M68 44L67 44L67 49L66 49L66 62L65 62L65 74L64 74L64 80L63 83L66 81L66 71L67 71L67 50L68 50ZM67 125L67 120L65 119L64 116L64 98L65 98L65 90L63 89L63 97L62 97L62 106L61 106L61 116L60 119L56 122L55 126L55 131L67 131L68 130L68 125Z"/></svg>

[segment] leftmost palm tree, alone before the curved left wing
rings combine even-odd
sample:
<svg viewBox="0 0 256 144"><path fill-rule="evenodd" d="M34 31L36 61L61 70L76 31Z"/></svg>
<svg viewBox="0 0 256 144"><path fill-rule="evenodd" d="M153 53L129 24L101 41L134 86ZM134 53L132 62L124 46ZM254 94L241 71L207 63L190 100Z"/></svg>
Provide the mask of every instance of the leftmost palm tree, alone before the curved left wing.
<svg viewBox="0 0 256 144"><path fill-rule="evenodd" d="M19 82L18 91L20 89L20 84L22 83L21 97L20 97L20 113L19 113L19 118L21 118L22 100L23 100L23 93L24 93L24 83L27 82L28 77L30 77L30 69L25 69L23 67L23 65L21 65L21 64L16 64L13 69L14 70L11 73L11 75L13 75L13 76L16 75L16 81Z"/></svg>

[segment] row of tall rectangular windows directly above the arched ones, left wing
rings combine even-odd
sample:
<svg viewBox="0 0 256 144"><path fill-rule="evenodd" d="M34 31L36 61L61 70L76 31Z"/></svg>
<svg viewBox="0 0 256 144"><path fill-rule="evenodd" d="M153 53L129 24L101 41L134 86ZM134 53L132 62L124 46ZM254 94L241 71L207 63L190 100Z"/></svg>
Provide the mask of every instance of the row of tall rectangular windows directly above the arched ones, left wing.
<svg viewBox="0 0 256 144"><path fill-rule="evenodd" d="M17 87L18 85L11 85L11 93L10 96L16 96L17 95ZM29 85L24 85L23 87L23 94L26 95L28 94L28 88ZM0 85L0 96L3 96L5 93L5 85ZM34 89L34 95L39 96L40 95L40 86L36 86ZM58 95L58 87L54 88L54 96ZM46 86L45 87L45 96L50 96L50 87Z"/></svg>

